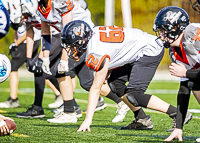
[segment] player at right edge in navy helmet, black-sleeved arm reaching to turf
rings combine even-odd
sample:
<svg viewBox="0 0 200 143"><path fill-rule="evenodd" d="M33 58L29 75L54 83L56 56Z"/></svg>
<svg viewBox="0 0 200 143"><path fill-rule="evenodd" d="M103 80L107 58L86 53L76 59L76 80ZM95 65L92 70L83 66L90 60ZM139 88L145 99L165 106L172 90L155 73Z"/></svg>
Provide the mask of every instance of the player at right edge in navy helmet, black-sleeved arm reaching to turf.
<svg viewBox="0 0 200 143"><path fill-rule="evenodd" d="M200 67L200 24L190 23L189 15L184 9L169 6L157 13L153 30L163 41L164 46L170 48L169 55L172 64L169 69L171 75L180 77L175 130L165 141L171 141L175 138L183 141L182 130L184 120L187 118L191 91L200 103L199 70L196 70Z"/></svg>

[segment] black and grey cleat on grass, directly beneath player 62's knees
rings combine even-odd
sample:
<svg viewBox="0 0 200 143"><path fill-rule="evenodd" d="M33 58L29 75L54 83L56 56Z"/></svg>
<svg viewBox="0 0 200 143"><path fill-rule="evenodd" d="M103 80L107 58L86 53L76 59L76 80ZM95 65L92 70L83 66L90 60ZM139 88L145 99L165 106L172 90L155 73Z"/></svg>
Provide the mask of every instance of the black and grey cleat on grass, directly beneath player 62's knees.
<svg viewBox="0 0 200 143"><path fill-rule="evenodd" d="M153 122L148 115L144 119L133 120L128 126L121 127L120 130L151 130L153 129Z"/></svg>

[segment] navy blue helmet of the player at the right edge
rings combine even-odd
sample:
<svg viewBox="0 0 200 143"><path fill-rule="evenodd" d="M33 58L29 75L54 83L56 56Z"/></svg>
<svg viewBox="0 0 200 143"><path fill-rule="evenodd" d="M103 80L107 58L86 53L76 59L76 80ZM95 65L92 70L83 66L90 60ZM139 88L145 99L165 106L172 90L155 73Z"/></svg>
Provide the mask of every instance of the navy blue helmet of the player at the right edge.
<svg viewBox="0 0 200 143"><path fill-rule="evenodd" d="M161 9L154 20L153 31L158 37L160 37L160 32L165 32L165 37L172 40L163 41L166 48L170 47L183 32L183 30L189 25L189 15L187 12L176 6L168 6Z"/></svg>

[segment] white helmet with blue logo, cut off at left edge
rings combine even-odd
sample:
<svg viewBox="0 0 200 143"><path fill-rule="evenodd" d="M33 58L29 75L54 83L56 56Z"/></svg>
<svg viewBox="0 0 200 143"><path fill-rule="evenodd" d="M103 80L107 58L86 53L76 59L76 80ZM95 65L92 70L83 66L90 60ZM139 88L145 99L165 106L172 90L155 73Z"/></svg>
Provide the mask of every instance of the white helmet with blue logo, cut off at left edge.
<svg viewBox="0 0 200 143"><path fill-rule="evenodd" d="M4 82L10 75L11 64L9 58L0 54L0 83Z"/></svg>

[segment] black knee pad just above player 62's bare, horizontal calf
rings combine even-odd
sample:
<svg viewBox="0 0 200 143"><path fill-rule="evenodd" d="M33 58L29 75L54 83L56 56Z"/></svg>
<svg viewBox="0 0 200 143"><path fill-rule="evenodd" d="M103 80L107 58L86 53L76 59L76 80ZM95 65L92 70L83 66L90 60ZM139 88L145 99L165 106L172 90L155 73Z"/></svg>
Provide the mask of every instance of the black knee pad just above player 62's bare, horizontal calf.
<svg viewBox="0 0 200 143"><path fill-rule="evenodd" d="M126 98L133 106L142 106L146 108L151 98L151 95L144 94L143 90L130 89L126 94Z"/></svg>

